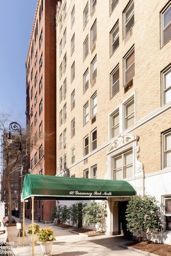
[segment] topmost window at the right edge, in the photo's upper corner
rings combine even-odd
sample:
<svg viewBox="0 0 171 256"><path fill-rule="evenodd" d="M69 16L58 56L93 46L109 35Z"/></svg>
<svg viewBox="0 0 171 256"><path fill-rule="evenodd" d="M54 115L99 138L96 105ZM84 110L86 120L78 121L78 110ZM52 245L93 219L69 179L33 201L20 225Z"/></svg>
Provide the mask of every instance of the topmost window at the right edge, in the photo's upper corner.
<svg viewBox="0 0 171 256"><path fill-rule="evenodd" d="M171 2L161 13L162 25L162 46L171 39Z"/></svg>

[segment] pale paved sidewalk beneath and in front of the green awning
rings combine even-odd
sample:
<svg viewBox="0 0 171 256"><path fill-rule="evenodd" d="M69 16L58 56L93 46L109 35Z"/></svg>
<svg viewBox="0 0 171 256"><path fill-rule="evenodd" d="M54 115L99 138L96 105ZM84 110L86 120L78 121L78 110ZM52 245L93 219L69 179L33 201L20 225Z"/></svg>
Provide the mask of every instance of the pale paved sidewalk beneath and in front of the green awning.
<svg viewBox="0 0 171 256"><path fill-rule="evenodd" d="M18 222L18 218L15 218ZM25 246L18 246L18 230L16 226L8 227L8 241L13 242L11 248L15 256L32 256L32 246L30 245L30 239L27 234L28 225L31 220L25 219ZM53 256L143 256L139 252L130 251L122 248L119 245L132 242L124 238L123 236L107 236L107 235L96 235L96 236L83 236L75 233L71 233L68 229L60 229L52 224L39 223L40 228L42 227L53 227L54 236L56 241L53 244L51 254ZM20 238L20 244L22 245L22 237ZM41 256L40 245L34 246L34 256Z"/></svg>

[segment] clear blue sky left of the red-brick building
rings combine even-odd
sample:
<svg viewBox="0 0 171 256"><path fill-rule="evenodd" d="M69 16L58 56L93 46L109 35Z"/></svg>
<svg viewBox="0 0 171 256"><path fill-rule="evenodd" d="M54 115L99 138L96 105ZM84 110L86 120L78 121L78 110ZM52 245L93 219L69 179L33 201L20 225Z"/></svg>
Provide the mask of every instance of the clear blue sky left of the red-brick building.
<svg viewBox="0 0 171 256"><path fill-rule="evenodd" d="M0 112L26 126L26 57L37 0L0 0Z"/></svg>

